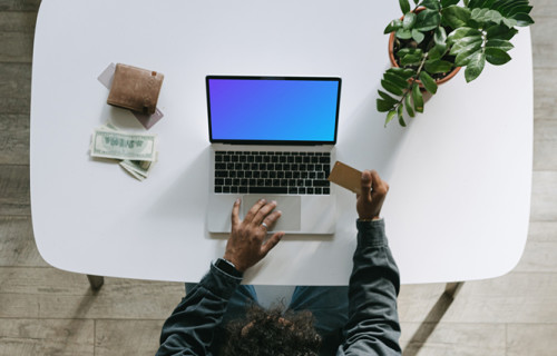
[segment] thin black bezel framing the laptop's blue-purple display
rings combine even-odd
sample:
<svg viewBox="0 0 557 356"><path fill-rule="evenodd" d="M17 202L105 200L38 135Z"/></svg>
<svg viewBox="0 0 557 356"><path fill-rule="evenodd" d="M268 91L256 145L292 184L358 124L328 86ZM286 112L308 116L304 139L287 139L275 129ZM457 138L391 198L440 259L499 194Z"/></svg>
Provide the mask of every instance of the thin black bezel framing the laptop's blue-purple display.
<svg viewBox="0 0 557 356"><path fill-rule="evenodd" d="M241 79L241 80L315 80L315 81L336 81L339 90L336 95L336 112L334 118L334 138L331 141L293 141L293 140L231 140L213 138L213 128L211 125L211 97L209 97L209 80L211 79ZM339 128L339 111L341 106L341 86L340 77L268 77L268 76L206 76L205 88L207 93L207 118L209 142L212 144L235 144L235 145L277 145L277 146L316 146L316 145L335 145Z"/></svg>

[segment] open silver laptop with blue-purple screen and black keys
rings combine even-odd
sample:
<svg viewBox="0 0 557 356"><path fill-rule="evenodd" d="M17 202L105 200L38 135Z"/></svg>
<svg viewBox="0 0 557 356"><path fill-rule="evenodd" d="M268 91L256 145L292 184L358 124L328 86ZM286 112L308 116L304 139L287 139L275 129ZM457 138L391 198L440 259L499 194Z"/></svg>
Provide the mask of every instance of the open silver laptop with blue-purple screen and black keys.
<svg viewBox="0 0 557 356"><path fill-rule="evenodd" d="M333 234L326 180L339 126L341 78L207 76L211 141L209 233L231 231L261 198L281 218L270 231Z"/></svg>

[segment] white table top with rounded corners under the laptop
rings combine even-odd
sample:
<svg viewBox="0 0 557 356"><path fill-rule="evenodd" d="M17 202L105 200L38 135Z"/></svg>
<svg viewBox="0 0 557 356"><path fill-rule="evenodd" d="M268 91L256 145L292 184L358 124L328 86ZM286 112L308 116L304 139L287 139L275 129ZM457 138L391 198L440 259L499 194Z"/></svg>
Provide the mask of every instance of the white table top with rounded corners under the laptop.
<svg viewBox="0 0 557 356"><path fill-rule="evenodd" d="M383 128L377 89L389 66L384 26L397 1L43 0L33 53L31 209L52 266L126 278L196 281L225 236L205 226L206 75L340 76L338 159L375 168L402 283L490 278L519 260L532 157L528 29L512 61L478 80L443 85L408 128ZM150 129L159 161L144 182L89 158L95 127L140 128L106 105L97 76L110 62L163 72L165 113ZM336 189L334 236L286 236L246 283L345 285L355 248L355 198Z"/></svg>

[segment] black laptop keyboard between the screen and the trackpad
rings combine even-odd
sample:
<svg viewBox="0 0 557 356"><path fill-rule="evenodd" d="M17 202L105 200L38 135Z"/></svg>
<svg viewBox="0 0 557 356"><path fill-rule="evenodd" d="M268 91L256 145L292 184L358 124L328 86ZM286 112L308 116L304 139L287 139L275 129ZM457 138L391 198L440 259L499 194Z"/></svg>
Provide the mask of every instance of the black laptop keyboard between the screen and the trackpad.
<svg viewBox="0 0 557 356"><path fill-rule="evenodd" d="M330 152L215 151L215 192L329 195Z"/></svg>

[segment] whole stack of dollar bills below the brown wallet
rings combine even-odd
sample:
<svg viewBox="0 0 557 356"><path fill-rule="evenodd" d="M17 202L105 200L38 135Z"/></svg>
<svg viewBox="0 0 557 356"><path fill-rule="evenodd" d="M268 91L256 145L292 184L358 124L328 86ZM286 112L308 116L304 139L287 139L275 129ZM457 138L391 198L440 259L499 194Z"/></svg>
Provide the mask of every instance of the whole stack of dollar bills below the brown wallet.
<svg viewBox="0 0 557 356"><path fill-rule="evenodd" d="M109 158L134 178L145 180L157 161L157 137L148 134L119 131L111 123L106 123L92 134L91 157Z"/></svg>

